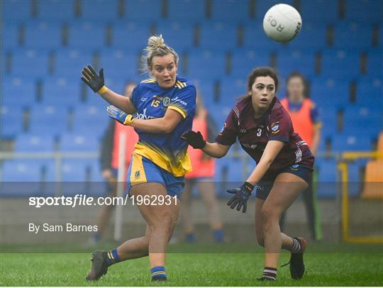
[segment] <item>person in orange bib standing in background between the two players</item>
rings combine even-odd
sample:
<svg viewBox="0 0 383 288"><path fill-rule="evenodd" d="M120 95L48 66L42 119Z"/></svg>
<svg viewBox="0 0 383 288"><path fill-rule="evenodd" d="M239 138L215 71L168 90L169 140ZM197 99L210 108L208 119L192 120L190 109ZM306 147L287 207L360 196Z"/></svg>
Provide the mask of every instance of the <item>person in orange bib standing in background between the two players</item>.
<svg viewBox="0 0 383 288"><path fill-rule="evenodd" d="M196 114L193 119L193 129L201 131L205 139L213 142L216 137L216 125L209 116L201 101L201 96L196 97ZM213 238L216 242L223 242L222 220L219 211L218 201L214 194L213 176L215 173L215 160L204 154L202 150L193 149L189 146L187 152L191 160L193 171L185 175L185 189L182 195L182 225L187 242L194 243L194 225L191 215L191 190L197 186L199 194L206 205L209 223L213 231Z"/></svg>

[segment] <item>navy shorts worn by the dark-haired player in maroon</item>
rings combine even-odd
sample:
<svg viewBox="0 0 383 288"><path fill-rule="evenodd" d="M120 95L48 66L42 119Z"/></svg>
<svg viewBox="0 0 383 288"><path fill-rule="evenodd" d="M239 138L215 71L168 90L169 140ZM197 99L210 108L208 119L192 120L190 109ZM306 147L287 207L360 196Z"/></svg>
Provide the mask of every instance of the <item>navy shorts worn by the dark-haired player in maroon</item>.
<svg viewBox="0 0 383 288"><path fill-rule="evenodd" d="M281 173L291 173L298 176L301 179L304 179L307 184L311 185L311 179L313 175L313 170L303 167L299 164L294 164L289 167L285 167L282 170L279 170L274 173L270 173L262 177L260 182L255 185L255 196L258 199L266 200L267 196L269 196L272 187L274 186L274 180Z"/></svg>

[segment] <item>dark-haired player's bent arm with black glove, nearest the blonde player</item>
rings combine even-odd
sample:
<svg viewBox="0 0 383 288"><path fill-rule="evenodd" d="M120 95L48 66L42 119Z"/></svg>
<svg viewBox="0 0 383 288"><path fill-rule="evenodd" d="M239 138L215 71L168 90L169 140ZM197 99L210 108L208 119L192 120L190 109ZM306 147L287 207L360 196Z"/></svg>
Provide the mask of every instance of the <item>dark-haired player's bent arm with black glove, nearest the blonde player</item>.
<svg viewBox="0 0 383 288"><path fill-rule="evenodd" d="M201 149L204 153L214 158L225 156L230 149L228 145L206 142L199 131L187 131L181 135L181 139L187 141L194 149Z"/></svg>

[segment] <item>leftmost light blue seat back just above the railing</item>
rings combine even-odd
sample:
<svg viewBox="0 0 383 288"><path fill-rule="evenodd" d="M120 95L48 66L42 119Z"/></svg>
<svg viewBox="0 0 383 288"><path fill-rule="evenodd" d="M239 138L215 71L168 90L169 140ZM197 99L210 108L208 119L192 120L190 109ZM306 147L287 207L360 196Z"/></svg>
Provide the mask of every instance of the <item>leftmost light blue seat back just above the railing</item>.
<svg viewBox="0 0 383 288"><path fill-rule="evenodd" d="M15 152L53 152L55 140L50 135L20 134L16 138Z"/></svg>

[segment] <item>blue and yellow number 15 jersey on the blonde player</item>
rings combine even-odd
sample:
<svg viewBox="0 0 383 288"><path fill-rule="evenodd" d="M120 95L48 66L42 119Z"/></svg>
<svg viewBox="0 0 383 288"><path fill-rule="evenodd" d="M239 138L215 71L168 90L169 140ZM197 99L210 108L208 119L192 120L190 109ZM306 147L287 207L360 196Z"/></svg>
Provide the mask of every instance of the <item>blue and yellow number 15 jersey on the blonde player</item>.
<svg viewBox="0 0 383 288"><path fill-rule="evenodd" d="M139 141L134 153L147 157L162 169L179 177L191 172L187 143L182 133L191 130L196 109L196 88L186 79L177 77L170 89L158 86L154 79L145 79L133 90L131 101L137 108L136 118L161 118L167 109L179 112L184 118L169 134L147 133L135 128Z"/></svg>

